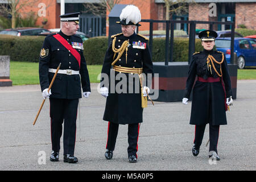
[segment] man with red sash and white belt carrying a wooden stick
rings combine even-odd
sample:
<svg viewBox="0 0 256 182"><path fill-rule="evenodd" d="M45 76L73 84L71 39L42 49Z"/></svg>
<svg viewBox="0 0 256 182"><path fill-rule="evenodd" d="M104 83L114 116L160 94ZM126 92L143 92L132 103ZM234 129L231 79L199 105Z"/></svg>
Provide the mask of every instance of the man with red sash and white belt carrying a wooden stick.
<svg viewBox="0 0 256 182"><path fill-rule="evenodd" d="M83 55L82 39L75 35L79 29L79 14L60 15L61 30L44 39L40 52L39 78L44 99L49 98L51 117L51 161L59 161L60 138L64 121L64 162L77 163L74 156L76 118L79 98L90 94L90 80ZM59 72L48 92L49 83L61 63ZM81 76L81 80L80 80Z"/></svg>

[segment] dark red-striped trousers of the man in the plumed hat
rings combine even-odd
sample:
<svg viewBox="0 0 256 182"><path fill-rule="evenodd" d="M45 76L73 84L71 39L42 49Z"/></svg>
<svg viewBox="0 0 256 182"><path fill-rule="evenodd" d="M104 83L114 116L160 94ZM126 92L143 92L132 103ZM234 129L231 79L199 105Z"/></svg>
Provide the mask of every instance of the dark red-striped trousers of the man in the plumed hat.
<svg viewBox="0 0 256 182"><path fill-rule="evenodd" d="M114 150L115 142L117 141L119 124L109 122L108 125L108 140L106 144L106 149ZM138 151L138 138L139 138L139 123L129 124L128 125L128 144L127 148L128 157L131 155L135 155L137 158Z"/></svg>

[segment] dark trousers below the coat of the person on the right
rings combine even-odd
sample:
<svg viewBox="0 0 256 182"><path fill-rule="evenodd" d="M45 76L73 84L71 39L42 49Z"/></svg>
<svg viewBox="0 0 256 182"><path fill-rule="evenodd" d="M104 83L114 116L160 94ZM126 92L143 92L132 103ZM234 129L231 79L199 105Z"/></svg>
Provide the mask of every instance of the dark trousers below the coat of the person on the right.
<svg viewBox="0 0 256 182"><path fill-rule="evenodd" d="M196 125L195 126L194 144L195 144L196 148L199 148L202 144L205 126L206 125ZM216 151L217 154L218 154L217 145L218 145L219 133L220 133L220 125L214 126L211 123L209 123L209 137L210 137L209 151Z"/></svg>

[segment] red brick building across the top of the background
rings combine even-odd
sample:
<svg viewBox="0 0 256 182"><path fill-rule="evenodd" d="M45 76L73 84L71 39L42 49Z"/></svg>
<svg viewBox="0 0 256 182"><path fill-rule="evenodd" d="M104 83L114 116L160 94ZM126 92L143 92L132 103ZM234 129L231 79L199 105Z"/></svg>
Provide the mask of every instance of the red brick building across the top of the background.
<svg viewBox="0 0 256 182"><path fill-rule="evenodd" d="M26 0L20 0L20 3ZM31 0L32 1L32 0ZM108 14L106 11L106 16L97 18L95 15L92 15L90 12L86 13L86 8L84 3L97 3L100 0L65 0L65 13L71 13L80 11L82 12L82 17L84 17L84 24L81 22L81 26L86 26L86 30L83 31L94 31L95 26L92 25L89 27L88 22L95 20L94 24L100 24L101 35L108 34ZM0 3L6 2L5 0L0 0ZM236 21L236 28L241 24L246 26L246 28L256 30L256 0L192 0L188 1L187 13L185 14L174 14L170 16L170 19L177 20L202 20L202 21ZM193 3L191 3L193 2ZM39 5L40 3L40 5ZM42 4L43 3L43 4ZM142 19L166 19L166 6L163 0L120 0L120 4L134 4L139 7L142 14ZM214 16L209 16L209 11L212 10L212 6L209 7L210 3L214 3L216 7ZM42 6L45 5L45 6ZM40 0L35 1L34 5L27 6L22 9L23 13L33 11L36 14L41 16L38 18L37 24L43 26L44 28L59 28L60 27L60 0ZM42 13L43 16L42 16ZM89 19L88 19L89 17ZM45 25L42 22L47 19ZM88 28L89 27L89 28ZM98 27L97 27L98 28ZM203 29L205 24L197 24L196 28ZM142 23L142 26L139 30L148 30L149 23ZM176 24L176 30L185 30L187 31L187 24ZM214 30L227 30L230 29L230 26L225 25L215 25ZM154 30L164 30L163 23L154 23ZM98 35L98 34L97 34ZM94 36L97 36L96 34ZM93 36L93 35L92 35Z"/></svg>

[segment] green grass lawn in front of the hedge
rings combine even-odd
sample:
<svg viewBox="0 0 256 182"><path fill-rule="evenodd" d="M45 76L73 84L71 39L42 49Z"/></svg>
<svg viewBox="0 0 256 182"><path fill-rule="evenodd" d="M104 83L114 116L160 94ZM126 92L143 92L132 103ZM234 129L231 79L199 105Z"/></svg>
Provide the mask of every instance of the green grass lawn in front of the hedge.
<svg viewBox="0 0 256 182"><path fill-rule="evenodd" d="M100 82L97 77L101 73L102 65L87 65L87 67L90 82ZM237 75L238 80L256 80L256 67L238 69ZM11 61L10 79L13 81L13 85L39 84L38 63Z"/></svg>

